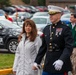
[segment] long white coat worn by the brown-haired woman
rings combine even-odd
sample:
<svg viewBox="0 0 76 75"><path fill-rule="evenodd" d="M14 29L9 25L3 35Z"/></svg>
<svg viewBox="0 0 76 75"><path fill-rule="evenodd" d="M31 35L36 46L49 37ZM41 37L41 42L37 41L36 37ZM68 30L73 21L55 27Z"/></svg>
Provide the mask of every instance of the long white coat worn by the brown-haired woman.
<svg viewBox="0 0 76 75"><path fill-rule="evenodd" d="M16 75L37 75L38 71L32 70L32 66L41 45L42 41L39 36L34 42L31 42L29 39L25 40L25 35L22 35L13 65L13 71L16 71Z"/></svg>

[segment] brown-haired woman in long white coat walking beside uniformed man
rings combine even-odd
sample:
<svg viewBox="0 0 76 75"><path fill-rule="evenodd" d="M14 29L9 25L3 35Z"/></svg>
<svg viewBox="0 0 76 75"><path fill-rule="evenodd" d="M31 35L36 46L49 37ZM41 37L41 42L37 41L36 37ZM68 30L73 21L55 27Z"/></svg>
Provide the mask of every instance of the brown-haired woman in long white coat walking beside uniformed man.
<svg viewBox="0 0 76 75"><path fill-rule="evenodd" d="M22 30L15 54L13 73L14 75L37 75L38 70L34 71L32 66L42 42L32 20L27 19Z"/></svg>

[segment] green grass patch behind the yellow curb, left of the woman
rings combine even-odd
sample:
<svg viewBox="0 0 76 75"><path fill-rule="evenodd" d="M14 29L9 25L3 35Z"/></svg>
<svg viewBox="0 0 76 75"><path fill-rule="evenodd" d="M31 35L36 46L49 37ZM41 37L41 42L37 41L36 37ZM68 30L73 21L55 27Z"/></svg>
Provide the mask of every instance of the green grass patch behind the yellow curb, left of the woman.
<svg viewBox="0 0 76 75"><path fill-rule="evenodd" d="M0 69L12 68L14 62L14 54L0 53Z"/></svg>

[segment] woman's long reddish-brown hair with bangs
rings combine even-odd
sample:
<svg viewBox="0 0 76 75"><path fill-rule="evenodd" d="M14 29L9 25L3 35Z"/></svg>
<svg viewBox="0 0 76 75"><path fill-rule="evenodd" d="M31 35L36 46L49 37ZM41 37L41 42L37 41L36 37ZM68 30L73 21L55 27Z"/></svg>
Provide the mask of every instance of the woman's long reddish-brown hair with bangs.
<svg viewBox="0 0 76 75"><path fill-rule="evenodd" d="M26 25L30 25L31 26L32 30L31 30L31 33L30 33L30 41L34 41L36 36L37 36L37 28L36 28L35 23L32 20L30 20L30 19L27 19L27 20L24 21L23 28L22 28L22 33L19 36L19 40L21 40L21 38L22 38L21 35L23 33L27 34L26 31L25 31L25 26Z"/></svg>

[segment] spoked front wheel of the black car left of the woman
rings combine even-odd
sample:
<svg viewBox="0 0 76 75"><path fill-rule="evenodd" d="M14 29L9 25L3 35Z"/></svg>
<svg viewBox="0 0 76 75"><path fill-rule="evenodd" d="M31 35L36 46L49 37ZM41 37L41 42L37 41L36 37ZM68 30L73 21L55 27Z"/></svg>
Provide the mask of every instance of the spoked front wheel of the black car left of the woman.
<svg viewBox="0 0 76 75"><path fill-rule="evenodd" d="M15 53L17 46L18 46L18 40L12 39L8 42L7 49L9 50L9 52Z"/></svg>

